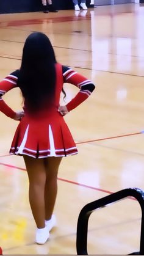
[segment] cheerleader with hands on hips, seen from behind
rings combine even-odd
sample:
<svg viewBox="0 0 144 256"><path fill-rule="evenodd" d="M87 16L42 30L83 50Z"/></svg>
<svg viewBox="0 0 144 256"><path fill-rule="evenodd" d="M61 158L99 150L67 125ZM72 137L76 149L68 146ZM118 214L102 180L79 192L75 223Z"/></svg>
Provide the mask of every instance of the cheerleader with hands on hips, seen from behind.
<svg viewBox="0 0 144 256"><path fill-rule="evenodd" d="M79 92L68 104L60 106L64 82L74 84ZM2 98L15 87L22 92L24 111L13 111ZM20 69L0 82L0 111L20 121L10 154L23 156L26 164L37 244L45 244L56 225L53 210L60 162L63 156L77 154L63 116L86 100L94 89L89 79L56 61L49 38L41 32L27 37Z"/></svg>

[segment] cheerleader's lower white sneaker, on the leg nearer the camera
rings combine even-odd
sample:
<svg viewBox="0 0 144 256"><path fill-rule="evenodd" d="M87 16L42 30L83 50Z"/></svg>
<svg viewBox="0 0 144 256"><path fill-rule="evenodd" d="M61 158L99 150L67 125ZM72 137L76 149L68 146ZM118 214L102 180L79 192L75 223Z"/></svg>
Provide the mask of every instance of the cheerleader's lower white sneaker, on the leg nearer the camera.
<svg viewBox="0 0 144 256"><path fill-rule="evenodd" d="M35 236L35 242L37 244L45 244L48 238L49 238L49 230L47 227L44 227L43 229L37 229L36 236Z"/></svg>

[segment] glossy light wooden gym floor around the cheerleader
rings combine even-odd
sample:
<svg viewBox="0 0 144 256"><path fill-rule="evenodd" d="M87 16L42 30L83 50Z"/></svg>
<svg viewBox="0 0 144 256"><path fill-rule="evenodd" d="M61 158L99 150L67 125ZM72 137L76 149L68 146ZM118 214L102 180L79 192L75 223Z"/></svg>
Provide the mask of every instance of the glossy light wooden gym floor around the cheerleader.
<svg viewBox="0 0 144 256"><path fill-rule="evenodd" d="M23 158L9 156L17 122L0 113L0 246L4 254L76 255L76 225L85 204L124 188L144 189L144 5L88 11L0 15L0 78L20 67L27 35L45 32L57 61L95 82L85 103L65 117L79 155L63 158L48 243L34 243ZM67 101L77 92L65 84ZM5 95L21 109L21 95ZM86 186L84 186L86 185ZM125 199L95 211L88 222L88 254L139 251L141 210Z"/></svg>

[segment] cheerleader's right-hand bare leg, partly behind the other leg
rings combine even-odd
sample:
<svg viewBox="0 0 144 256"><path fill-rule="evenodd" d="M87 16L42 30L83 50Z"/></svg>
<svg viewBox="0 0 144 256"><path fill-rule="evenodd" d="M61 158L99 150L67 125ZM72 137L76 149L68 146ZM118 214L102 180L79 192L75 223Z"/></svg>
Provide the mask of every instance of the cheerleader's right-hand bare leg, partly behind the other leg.
<svg viewBox="0 0 144 256"><path fill-rule="evenodd" d="M57 172L61 157L45 158L46 185L45 185L45 219L51 219L57 196Z"/></svg>

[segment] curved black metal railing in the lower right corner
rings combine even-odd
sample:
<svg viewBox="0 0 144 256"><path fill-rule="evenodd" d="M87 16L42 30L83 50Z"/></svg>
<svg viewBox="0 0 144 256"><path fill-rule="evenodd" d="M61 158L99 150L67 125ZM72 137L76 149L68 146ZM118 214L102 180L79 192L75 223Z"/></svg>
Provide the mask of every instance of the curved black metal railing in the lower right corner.
<svg viewBox="0 0 144 256"><path fill-rule="evenodd" d="M140 204L142 210L142 222L140 233L140 251L134 252L129 255L144 255L144 191L139 188L127 188L121 191L110 194L109 196L95 200L85 205L79 213L77 221L77 234L76 234L76 250L77 255L88 255L87 253L87 232L88 232L88 219L90 214L101 207L109 205L109 203L117 202L118 200L126 197L134 197Z"/></svg>

